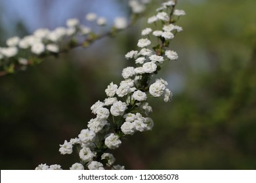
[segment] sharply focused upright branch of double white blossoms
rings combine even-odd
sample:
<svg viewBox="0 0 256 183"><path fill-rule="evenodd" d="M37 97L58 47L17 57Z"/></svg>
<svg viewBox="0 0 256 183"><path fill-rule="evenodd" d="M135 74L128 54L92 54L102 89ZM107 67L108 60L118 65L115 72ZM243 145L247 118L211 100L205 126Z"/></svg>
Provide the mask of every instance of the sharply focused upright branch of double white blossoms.
<svg viewBox="0 0 256 183"><path fill-rule="evenodd" d="M116 159L109 151L118 148L123 137L152 129L154 122L148 117L152 112L148 104L150 97L171 101L167 81L156 78L152 83L151 78L164 63L178 58L175 51L169 50L169 42L182 31L175 22L184 14L183 10L175 10L175 1L167 1L158 8L156 15L148 18L148 27L142 30L138 48L125 55L136 67L123 69L123 80L118 85L110 82L105 90L106 99L96 101L91 107L95 118L89 120L87 128L82 129L75 139L60 144L60 154L72 154L74 146L78 149L80 161L70 169L124 169L114 164ZM160 24L161 29L151 26L153 22ZM160 44L152 45L154 39ZM41 164L36 169L51 169L51 166Z"/></svg>

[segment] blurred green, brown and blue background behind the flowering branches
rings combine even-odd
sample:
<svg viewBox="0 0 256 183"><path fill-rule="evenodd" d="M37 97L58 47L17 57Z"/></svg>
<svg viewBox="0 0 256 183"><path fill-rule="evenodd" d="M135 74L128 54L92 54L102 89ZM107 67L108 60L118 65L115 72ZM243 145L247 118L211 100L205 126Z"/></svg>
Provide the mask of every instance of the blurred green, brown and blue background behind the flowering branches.
<svg viewBox="0 0 256 183"><path fill-rule="evenodd" d="M111 25L115 16L129 17L126 3L0 0L0 45L40 27L65 25L68 18L85 22L88 12ZM187 13L179 20L184 31L171 42L179 60L160 75L173 101L150 101L153 130L123 141L114 150L116 162L126 169L256 169L255 0L178 3ZM34 169L40 163L68 169L74 163L74 156L59 154L59 144L86 127L94 117L91 105L105 98L111 81L121 81L121 69L130 64L124 55L136 48L145 20L89 48L0 78L1 169Z"/></svg>

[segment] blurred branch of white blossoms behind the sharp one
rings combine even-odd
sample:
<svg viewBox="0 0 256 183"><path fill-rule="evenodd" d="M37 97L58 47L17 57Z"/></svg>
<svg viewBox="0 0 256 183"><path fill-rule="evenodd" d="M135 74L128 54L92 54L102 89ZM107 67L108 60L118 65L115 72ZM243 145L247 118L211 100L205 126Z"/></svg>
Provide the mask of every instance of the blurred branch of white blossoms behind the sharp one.
<svg viewBox="0 0 256 183"><path fill-rule="evenodd" d="M129 0L133 14L144 11L146 3L150 0ZM95 13L86 14L87 22L96 22L98 26L107 24L107 20ZM0 76L24 70L28 65L41 62L47 56L56 56L77 46L89 46L96 39L104 35L113 35L116 31L129 26L127 18L116 17L109 32L97 34L80 23L77 18L66 21L66 27L56 27L54 30L37 29L32 35L26 37L11 37L7 39L6 46L0 47Z"/></svg>

